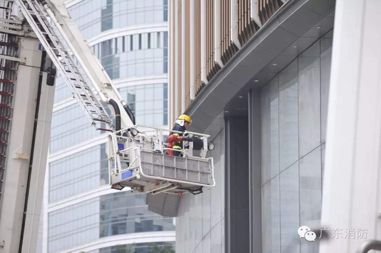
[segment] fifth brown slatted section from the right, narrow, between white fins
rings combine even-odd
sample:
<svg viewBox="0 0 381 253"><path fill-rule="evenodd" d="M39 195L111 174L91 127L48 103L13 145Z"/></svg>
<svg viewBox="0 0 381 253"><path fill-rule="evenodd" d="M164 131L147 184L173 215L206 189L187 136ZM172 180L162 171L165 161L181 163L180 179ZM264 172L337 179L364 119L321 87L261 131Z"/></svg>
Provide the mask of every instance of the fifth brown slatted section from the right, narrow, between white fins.
<svg viewBox="0 0 381 253"><path fill-rule="evenodd" d="M195 12L195 25L194 25L194 45L195 45L195 59L194 59L194 69L195 69L195 93L198 94L202 87L201 81L201 1L205 0L194 0L194 12Z"/></svg>

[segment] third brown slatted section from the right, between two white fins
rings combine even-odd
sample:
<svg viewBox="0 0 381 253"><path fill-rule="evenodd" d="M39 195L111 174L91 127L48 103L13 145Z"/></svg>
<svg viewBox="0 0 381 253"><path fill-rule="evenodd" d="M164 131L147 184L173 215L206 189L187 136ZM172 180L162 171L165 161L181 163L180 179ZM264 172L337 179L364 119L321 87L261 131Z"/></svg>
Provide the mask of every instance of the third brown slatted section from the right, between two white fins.
<svg viewBox="0 0 381 253"><path fill-rule="evenodd" d="M230 0L221 0L221 61L226 64L237 53L238 48L231 40Z"/></svg>

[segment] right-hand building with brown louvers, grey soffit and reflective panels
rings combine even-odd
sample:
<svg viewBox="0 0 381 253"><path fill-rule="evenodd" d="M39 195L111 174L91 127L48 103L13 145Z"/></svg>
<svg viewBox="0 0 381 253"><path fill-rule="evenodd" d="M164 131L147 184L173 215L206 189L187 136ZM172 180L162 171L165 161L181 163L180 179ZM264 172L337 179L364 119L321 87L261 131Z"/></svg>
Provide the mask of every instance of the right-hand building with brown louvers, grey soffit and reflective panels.
<svg viewBox="0 0 381 253"><path fill-rule="evenodd" d="M170 118L216 144L176 252L319 252L298 229L320 226L335 0L170 3Z"/></svg>

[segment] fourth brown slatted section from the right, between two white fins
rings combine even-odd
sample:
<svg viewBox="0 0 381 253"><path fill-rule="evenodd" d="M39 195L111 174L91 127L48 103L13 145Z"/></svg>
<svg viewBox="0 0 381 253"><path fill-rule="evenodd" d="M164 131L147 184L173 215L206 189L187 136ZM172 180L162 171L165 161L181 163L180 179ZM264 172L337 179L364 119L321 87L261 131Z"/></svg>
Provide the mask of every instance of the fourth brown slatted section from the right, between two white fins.
<svg viewBox="0 0 381 253"><path fill-rule="evenodd" d="M220 69L216 64L214 53L214 40L215 40L215 23L214 23L214 0L207 1L207 78L208 81Z"/></svg>

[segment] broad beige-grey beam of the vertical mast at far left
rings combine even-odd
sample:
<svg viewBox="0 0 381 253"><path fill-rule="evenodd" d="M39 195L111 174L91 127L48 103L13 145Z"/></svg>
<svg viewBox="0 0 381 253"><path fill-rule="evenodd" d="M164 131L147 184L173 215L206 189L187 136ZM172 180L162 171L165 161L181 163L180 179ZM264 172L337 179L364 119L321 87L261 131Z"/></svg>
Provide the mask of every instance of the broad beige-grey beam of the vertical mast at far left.
<svg viewBox="0 0 381 253"><path fill-rule="evenodd" d="M37 39L21 38L20 43L20 58L26 62L25 65L18 66L17 81L14 84L13 115L0 215L0 241L4 241L4 247L0 247L0 253L19 252L42 57ZM18 154L26 156L20 159ZM42 191L40 194L42 199ZM38 204L40 206L36 210L40 212L41 202Z"/></svg>

